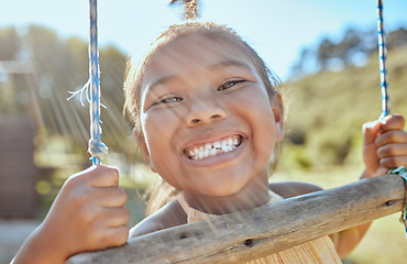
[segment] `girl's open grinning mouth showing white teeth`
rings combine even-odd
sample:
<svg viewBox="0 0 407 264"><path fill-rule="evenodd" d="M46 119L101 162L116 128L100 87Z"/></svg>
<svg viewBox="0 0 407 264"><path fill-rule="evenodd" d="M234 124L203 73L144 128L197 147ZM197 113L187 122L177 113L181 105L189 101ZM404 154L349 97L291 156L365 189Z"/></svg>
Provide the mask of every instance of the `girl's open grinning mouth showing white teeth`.
<svg viewBox="0 0 407 264"><path fill-rule="evenodd" d="M207 157L221 155L232 152L242 143L242 136L239 134L226 136L212 142L206 142L194 146L188 146L184 153L189 160L199 161Z"/></svg>

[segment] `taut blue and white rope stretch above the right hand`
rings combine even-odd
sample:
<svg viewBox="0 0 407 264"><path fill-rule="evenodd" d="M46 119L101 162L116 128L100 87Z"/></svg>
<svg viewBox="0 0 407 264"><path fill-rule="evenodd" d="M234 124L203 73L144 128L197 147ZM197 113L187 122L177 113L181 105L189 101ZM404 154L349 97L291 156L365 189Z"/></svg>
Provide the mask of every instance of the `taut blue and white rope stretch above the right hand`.
<svg viewBox="0 0 407 264"><path fill-rule="evenodd" d="M377 0L377 36L378 36L378 63L381 68L381 86L382 86L382 116L381 119L391 113L391 105L388 99L388 79L386 67L386 34L383 26L383 1Z"/></svg>

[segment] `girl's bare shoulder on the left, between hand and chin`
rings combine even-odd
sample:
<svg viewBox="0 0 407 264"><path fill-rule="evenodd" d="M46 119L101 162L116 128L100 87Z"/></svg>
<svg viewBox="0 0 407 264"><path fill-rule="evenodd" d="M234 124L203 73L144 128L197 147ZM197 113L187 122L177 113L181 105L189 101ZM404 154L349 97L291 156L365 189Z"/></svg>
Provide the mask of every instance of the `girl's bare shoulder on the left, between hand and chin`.
<svg viewBox="0 0 407 264"><path fill-rule="evenodd" d="M185 224L187 223L186 219L184 209L177 200L174 200L134 226L130 230L129 239Z"/></svg>

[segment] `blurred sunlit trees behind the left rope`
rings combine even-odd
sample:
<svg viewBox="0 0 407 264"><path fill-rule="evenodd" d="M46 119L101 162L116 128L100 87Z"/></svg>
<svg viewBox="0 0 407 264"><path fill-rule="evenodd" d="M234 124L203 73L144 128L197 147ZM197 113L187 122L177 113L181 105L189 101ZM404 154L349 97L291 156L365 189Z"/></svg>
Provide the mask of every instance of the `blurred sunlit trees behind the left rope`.
<svg viewBox="0 0 407 264"><path fill-rule="evenodd" d="M62 38L54 31L30 25L24 34L14 28L0 30L0 61L31 65L29 72L3 73L0 78L0 117L25 114L37 106L36 117L46 135L64 135L86 148L89 139L87 95L69 98L89 78L88 43L78 37ZM101 109L103 142L125 151L131 132L122 116L125 55L114 46L102 46L100 53ZM22 100L22 94L30 100ZM31 95L31 96L30 96ZM20 97L20 99L19 99ZM82 107L81 105L85 105ZM35 108L34 108L35 109ZM34 111L35 112L35 111Z"/></svg>

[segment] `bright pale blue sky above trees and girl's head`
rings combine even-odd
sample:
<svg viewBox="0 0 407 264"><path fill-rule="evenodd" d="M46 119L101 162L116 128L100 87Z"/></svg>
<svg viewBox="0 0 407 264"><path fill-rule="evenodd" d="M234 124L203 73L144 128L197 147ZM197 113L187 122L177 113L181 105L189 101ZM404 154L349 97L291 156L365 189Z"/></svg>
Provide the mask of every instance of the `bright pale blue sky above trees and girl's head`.
<svg viewBox="0 0 407 264"><path fill-rule="evenodd" d="M99 45L114 45L140 57L167 25L182 21L182 8L169 0L99 0ZM200 0L201 20L238 31L283 80L302 46L321 37L340 37L350 25L375 26L376 0ZM62 37L88 41L87 0L0 0L0 28L38 24ZM407 29L407 0L384 0L388 32ZM1 47L0 47L1 48ZM100 59L103 59L102 57Z"/></svg>

